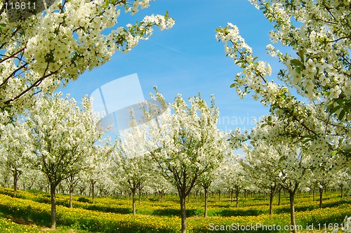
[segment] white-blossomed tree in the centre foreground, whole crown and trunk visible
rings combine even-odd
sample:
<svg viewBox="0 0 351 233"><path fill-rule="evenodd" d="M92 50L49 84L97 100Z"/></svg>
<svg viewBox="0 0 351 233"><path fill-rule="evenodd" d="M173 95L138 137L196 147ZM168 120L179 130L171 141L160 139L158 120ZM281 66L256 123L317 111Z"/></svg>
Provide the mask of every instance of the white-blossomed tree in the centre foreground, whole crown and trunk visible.
<svg viewBox="0 0 351 233"><path fill-rule="evenodd" d="M190 106L181 95L172 104L167 104L159 92L152 98L164 109L149 105L145 111L145 118L150 119L147 152L164 178L178 190L182 232L186 232L186 197L201 176L218 167L226 153L227 140L216 126L218 108L213 96L209 107L200 96L189 98ZM164 112L157 116L160 111ZM154 116L156 119L152 120Z"/></svg>

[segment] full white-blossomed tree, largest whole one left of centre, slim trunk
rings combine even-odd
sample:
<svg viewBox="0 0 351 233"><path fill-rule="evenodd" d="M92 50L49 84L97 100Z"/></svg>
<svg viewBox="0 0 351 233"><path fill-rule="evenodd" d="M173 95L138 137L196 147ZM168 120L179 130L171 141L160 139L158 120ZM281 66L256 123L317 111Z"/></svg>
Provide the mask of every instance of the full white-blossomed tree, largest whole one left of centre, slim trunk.
<svg viewBox="0 0 351 233"><path fill-rule="evenodd" d="M33 150L29 160L46 175L51 193L51 228L56 226L56 187L86 166L92 148L101 136L98 116L84 97L80 109L74 99L39 95L26 112Z"/></svg>

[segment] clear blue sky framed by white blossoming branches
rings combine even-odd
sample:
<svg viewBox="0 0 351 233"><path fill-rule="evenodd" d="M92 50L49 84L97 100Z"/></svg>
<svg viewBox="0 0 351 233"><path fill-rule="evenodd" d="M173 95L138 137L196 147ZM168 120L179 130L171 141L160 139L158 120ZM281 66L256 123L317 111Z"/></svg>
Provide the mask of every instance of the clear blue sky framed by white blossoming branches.
<svg viewBox="0 0 351 233"><path fill-rule="evenodd" d="M241 36L253 48L253 54L259 60L270 62L271 79L274 79L281 67L265 52L265 46L270 44L268 32L272 25L262 11L247 0L156 0L150 8L133 17L121 14L117 26L166 11L176 20L172 29L155 28L150 39L140 41L131 52L115 53L105 65L85 72L60 91L71 93L79 100L109 81L137 73L146 99L153 92L153 86L157 86L168 102L178 93L188 98L201 92L208 102L214 94L220 109L219 128L227 131L253 127L251 120L267 114L268 109L250 96L240 99L230 88L240 69L225 56L224 44L216 41L215 29L227 22L237 25Z"/></svg>

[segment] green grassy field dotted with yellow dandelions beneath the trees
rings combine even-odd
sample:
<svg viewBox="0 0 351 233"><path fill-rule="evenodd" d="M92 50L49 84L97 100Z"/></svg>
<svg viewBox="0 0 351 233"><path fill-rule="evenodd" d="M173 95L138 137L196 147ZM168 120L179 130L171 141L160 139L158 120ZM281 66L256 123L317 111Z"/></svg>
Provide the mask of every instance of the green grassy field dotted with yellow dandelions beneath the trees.
<svg viewBox="0 0 351 233"><path fill-rule="evenodd" d="M18 192L0 188L0 232L44 232L50 225L50 196L42 193ZM308 194L296 199L296 223L301 232L331 232L341 225L345 215L351 215L350 197L340 198L327 193L324 208L317 206ZM143 197L137 204L137 215L131 214L131 200L125 198L95 198L95 204L84 197L74 197L74 208L68 208L69 197L58 195L58 230L55 232L180 232L178 197L167 196L162 202L155 197ZM269 201L263 197L240 197L239 208L222 195L210 198L208 218L203 218L204 200L187 203L188 232L289 232L289 199L281 205L274 200L269 215ZM222 229L222 230L221 230Z"/></svg>

